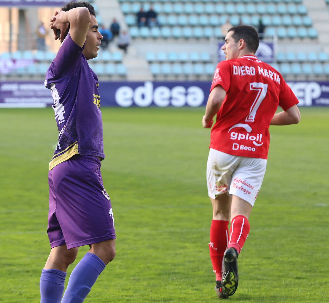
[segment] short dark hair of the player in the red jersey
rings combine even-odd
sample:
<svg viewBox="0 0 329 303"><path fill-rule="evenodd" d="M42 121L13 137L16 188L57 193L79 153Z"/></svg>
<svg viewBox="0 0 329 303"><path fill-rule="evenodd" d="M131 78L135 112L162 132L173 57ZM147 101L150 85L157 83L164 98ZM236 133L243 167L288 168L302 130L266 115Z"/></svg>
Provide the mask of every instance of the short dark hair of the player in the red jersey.
<svg viewBox="0 0 329 303"><path fill-rule="evenodd" d="M237 43L243 39L249 51L256 53L259 46L259 36L254 27L250 25L238 25L231 27L227 32L233 31L232 38Z"/></svg>

